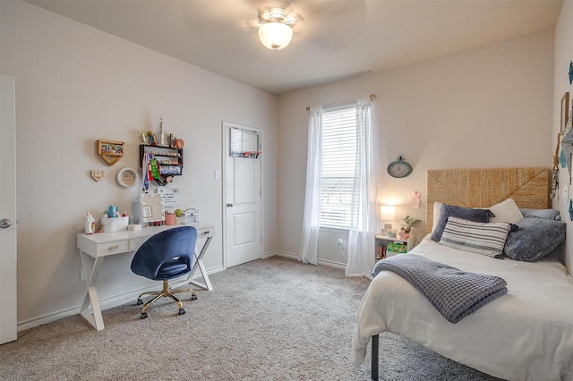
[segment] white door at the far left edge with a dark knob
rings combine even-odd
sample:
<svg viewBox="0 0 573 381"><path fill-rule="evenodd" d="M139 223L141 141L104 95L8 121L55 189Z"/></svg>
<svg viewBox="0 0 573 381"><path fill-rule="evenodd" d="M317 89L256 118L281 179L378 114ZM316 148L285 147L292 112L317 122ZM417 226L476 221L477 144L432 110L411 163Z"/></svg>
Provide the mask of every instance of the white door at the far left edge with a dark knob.
<svg viewBox="0 0 573 381"><path fill-rule="evenodd" d="M0 76L0 344L16 340L15 80Z"/></svg>

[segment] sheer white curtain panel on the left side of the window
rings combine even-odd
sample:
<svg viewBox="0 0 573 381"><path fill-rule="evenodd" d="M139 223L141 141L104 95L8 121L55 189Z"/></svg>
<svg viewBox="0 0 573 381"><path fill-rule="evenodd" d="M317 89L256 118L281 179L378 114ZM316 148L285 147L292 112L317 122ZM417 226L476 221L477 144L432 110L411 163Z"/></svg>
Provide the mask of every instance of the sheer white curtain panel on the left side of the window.
<svg viewBox="0 0 573 381"><path fill-rule="evenodd" d="M312 106L308 122L308 158L304 194L303 240L298 259L318 264L318 241L321 225L322 182L322 107Z"/></svg>

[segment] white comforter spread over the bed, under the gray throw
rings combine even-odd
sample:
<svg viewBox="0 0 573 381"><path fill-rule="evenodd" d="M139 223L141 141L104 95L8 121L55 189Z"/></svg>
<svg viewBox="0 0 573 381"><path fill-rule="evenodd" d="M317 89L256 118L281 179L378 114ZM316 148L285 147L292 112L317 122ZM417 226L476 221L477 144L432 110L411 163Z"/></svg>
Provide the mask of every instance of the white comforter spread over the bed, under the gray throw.
<svg viewBox="0 0 573 381"><path fill-rule="evenodd" d="M358 308L352 342L356 367L371 336L390 331L494 377L573 380L573 280L558 260L489 258L450 249L429 237L410 252L465 271L498 275L508 283L508 293L452 324L405 279L382 271Z"/></svg>

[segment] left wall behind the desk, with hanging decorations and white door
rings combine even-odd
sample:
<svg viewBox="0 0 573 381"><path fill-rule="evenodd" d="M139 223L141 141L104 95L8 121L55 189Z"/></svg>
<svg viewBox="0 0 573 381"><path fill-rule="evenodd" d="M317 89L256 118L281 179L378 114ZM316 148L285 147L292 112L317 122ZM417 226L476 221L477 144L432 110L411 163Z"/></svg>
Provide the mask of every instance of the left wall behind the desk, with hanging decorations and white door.
<svg viewBox="0 0 573 381"><path fill-rule="evenodd" d="M131 213L141 186L124 189L115 174L139 168L142 131L184 139L182 207L198 207L216 225L205 258L220 269L223 121L263 130L264 250L276 249L277 99L121 38L21 1L0 2L1 67L16 78L18 321L33 325L79 309L85 294L75 234L83 216L98 217L114 203ZM125 156L108 166L96 140L125 142ZM105 171L100 182L90 170ZM109 258L100 299L149 281L132 275L131 256ZM215 285L216 286L216 285Z"/></svg>

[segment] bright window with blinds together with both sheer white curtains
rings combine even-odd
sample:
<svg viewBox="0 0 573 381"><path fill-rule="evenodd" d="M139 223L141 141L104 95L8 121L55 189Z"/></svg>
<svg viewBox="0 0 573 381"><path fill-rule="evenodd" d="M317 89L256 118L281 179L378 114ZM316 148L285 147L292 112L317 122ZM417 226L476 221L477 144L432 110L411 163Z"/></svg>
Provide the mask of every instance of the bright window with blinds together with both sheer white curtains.
<svg viewBox="0 0 573 381"><path fill-rule="evenodd" d="M371 182L371 103L312 106L299 258L318 263L320 230L348 231L346 275L368 275L375 226ZM372 246L372 250L369 247ZM364 268L363 268L364 267Z"/></svg>

